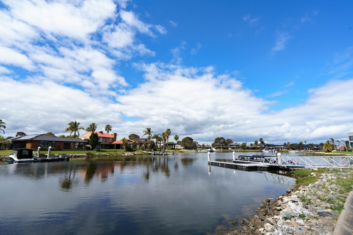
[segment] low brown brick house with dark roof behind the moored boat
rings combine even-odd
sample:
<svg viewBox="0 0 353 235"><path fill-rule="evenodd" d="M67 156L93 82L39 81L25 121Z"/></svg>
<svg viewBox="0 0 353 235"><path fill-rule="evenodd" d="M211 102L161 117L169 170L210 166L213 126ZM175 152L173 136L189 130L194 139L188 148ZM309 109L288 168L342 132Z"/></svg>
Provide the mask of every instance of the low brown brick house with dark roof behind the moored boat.
<svg viewBox="0 0 353 235"><path fill-rule="evenodd" d="M80 138L55 137L47 134L18 136L6 141L11 143L10 149L52 147L53 150L84 150L87 144L87 141Z"/></svg>

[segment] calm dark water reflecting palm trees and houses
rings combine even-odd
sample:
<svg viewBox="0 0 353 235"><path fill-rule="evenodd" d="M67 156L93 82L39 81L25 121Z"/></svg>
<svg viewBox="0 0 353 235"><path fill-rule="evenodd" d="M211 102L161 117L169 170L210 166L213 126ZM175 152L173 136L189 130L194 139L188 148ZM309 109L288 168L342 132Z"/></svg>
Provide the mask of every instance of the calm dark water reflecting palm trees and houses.
<svg viewBox="0 0 353 235"><path fill-rule="evenodd" d="M0 165L0 179L1 234L213 234L295 183L206 153Z"/></svg>

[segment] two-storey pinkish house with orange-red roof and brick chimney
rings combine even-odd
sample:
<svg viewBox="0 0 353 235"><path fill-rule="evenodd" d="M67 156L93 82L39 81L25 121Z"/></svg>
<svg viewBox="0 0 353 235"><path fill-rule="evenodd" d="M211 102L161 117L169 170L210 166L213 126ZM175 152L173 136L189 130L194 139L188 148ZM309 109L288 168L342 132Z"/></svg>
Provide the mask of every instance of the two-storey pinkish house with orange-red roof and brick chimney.
<svg viewBox="0 0 353 235"><path fill-rule="evenodd" d="M113 133L113 135L110 135L108 133L104 133L103 131L95 131L95 133L98 135L98 148L100 149L122 149L122 141L116 140L116 133ZM92 132L88 131L85 134L81 135L80 138L82 140L84 139L89 139L91 136Z"/></svg>

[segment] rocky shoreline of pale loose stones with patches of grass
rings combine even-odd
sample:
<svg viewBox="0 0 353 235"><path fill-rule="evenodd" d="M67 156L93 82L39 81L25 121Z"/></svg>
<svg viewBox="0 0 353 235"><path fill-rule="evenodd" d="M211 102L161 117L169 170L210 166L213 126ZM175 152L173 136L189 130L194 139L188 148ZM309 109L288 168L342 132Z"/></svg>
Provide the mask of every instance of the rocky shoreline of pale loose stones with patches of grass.
<svg viewBox="0 0 353 235"><path fill-rule="evenodd" d="M351 172L350 172L351 173ZM315 173L311 173L315 175ZM258 215L243 219L238 229L228 235L289 235L289 234L333 234L338 219L338 207L349 192L340 194L336 180L347 179L347 173L330 172L319 176L314 184L292 187L286 194L273 200L267 198L263 205L255 208ZM342 206L343 207L343 206ZM216 234L222 234L216 231Z"/></svg>

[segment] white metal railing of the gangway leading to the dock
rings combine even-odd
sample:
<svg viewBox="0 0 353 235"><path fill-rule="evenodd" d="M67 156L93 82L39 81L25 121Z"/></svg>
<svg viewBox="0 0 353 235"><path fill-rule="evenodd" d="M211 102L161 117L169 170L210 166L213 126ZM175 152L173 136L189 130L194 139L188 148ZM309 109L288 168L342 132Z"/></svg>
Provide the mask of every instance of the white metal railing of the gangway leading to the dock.
<svg viewBox="0 0 353 235"><path fill-rule="evenodd" d="M353 156L281 156L268 157L270 165L303 165L310 167L353 167ZM264 160L264 163L265 160Z"/></svg>

